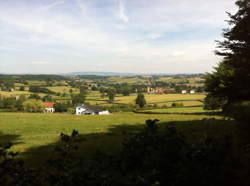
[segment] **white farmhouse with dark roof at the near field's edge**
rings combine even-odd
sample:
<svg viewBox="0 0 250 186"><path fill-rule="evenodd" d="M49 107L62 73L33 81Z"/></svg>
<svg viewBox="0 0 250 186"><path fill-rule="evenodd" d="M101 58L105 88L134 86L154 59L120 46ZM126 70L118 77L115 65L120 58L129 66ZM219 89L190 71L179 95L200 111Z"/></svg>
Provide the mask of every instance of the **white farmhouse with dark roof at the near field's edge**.
<svg viewBox="0 0 250 186"><path fill-rule="evenodd" d="M76 115L109 115L109 111L98 106L78 104L76 105Z"/></svg>

